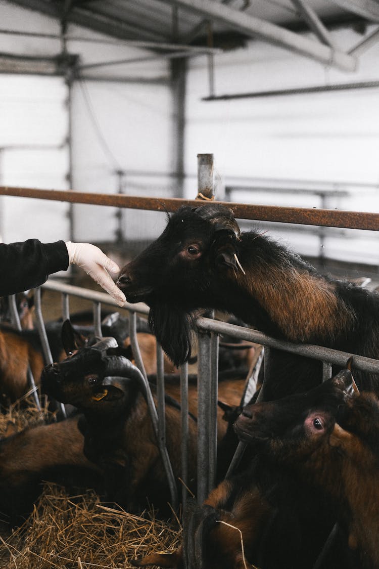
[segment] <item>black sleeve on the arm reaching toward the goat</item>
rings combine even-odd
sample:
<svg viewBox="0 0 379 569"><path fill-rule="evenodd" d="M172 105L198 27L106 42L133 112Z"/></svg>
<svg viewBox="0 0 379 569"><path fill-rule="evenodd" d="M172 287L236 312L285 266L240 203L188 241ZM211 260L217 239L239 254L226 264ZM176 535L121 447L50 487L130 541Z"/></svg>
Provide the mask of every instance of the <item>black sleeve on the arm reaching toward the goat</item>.
<svg viewBox="0 0 379 569"><path fill-rule="evenodd" d="M64 241L41 243L28 239L6 245L0 243L0 296L38 287L52 273L69 265Z"/></svg>

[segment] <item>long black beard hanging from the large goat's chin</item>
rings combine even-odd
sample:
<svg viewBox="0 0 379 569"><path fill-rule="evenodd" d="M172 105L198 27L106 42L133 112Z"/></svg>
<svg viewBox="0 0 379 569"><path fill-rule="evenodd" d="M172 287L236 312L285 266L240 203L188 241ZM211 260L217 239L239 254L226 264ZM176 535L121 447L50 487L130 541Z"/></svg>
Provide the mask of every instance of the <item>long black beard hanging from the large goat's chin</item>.
<svg viewBox="0 0 379 569"><path fill-rule="evenodd" d="M155 304L150 308L149 326L175 366L191 357L193 318L179 307Z"/></svg>

